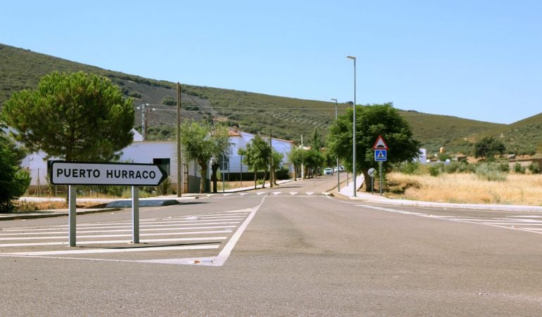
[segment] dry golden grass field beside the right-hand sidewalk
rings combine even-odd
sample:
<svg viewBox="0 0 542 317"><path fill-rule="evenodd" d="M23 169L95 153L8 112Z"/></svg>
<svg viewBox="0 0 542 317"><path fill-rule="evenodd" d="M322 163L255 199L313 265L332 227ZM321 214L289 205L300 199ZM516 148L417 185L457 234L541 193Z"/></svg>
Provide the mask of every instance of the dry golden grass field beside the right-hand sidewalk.
<svg viewBox="0 0 542 317"><path fill-rule="evenodd" d="M508 174L506 181L482 181L474 174L406 175L389 173L389 198L430 202L542 205L541 174ZM393 193L395 189L396 193ZM401 191L404 190L404 193Z"/></svg>

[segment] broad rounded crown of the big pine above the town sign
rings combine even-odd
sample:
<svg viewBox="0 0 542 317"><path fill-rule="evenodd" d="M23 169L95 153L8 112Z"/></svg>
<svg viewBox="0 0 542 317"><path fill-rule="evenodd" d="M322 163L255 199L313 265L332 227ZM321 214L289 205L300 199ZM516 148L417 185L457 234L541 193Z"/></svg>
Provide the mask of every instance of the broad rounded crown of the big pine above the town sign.
<svg viewBox="0 0 542 317"><path fill-rule="evenodd" d="M31 152L68 161L118 160L132 143L134 107L106 77L53 72L37 89L13 93L2 110Z"/></svg>

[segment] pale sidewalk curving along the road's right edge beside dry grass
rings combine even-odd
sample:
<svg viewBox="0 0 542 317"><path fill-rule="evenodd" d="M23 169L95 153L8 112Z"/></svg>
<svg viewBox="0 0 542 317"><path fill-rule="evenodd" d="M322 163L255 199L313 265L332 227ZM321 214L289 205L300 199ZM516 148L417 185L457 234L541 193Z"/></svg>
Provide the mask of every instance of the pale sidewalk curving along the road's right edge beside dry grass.
<svg viewBox="0 0 542 317"><path fill-rule="evenodd" d="M363 184L363 175L355 179L358 190ZM343 185L341 191L338 192L351 200L359 200L360 202L373 202L392 206L408 206L408 207L436 207L436 208L453 208L453 209L477 209L477 210L496 210L505 212L537 212L542 213L542 207L539 206L522 206L522 205L479 205L479 204L455 204L451 202L422 202L417 200L402 200L390 199L380 195L380 193L365 193L365 191L356 192L356 197L353 197L353 182L348 183L348 186Z"/></svg>

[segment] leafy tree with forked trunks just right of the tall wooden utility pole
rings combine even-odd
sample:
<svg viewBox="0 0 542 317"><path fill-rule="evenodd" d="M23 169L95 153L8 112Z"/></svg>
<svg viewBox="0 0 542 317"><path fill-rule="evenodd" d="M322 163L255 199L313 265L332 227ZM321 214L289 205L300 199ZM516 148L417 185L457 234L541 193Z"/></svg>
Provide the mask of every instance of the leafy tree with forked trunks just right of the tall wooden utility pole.
<svg viewBox="0 0 542 317"><path fill-rule="evenodd" d="M211 169L213 171L213 190L217 191L216 171L219 167L218 158L229 148L229 137L227 127L217 125L211 126L208 122L184 122L180 127L181 145L183 154L187 161L198 162L201 169L201 182L199 193L205 192L205 181L209 161L213 160Z"/></svg>

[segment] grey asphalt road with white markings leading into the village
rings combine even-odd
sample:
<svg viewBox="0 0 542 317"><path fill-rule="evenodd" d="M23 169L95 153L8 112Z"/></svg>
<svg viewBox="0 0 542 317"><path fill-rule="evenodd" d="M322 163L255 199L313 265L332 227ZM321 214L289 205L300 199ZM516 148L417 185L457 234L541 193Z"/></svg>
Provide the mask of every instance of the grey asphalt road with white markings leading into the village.
<svg viewBox="0 0 542 317"><path fill-rule="evenodd" d="M335 181L141 209L140 245L128 211L78 216L73 248L66 218L2 221L0 315L542 315L542 214L322 195Z"/></svg>

